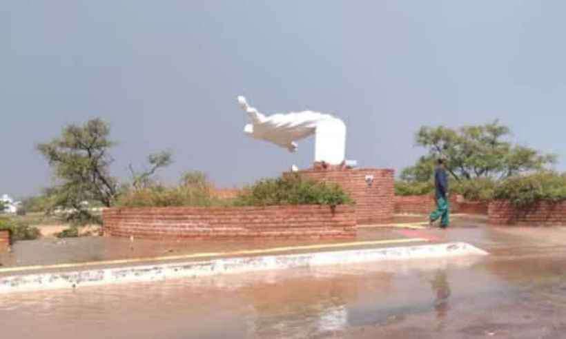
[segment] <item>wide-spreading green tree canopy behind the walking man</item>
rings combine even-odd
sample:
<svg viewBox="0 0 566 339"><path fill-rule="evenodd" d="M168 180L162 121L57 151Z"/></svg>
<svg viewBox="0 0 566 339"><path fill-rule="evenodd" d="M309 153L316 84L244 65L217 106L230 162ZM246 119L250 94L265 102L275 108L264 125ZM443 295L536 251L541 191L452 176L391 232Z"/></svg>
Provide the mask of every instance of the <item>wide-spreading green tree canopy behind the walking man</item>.
<svg viewBox="0 0 566 339"><path fill-rule="evenodd" d="M429 181L436 158L447 160L447 171L458 182L474 178L501 180L520 174L544 170L556 163L556 155L509 141L511 130L499 121L459 129L421 127L416 145L428 150L416 165L402 171L403 181Z"/></svg>

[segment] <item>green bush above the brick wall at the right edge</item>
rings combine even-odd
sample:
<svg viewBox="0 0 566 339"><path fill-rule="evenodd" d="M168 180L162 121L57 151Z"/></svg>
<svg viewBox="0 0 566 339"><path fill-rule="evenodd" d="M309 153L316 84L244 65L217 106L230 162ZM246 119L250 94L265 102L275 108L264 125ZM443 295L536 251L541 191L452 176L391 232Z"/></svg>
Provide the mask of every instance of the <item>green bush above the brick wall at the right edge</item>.
<svg viewBox="0 0 566 339"><path fill-rule="evenodd" d="M494 198L509 200L518 207L528 207L538 201L565 201L566 175L539 172L511 177L496 185Z"/></svg>

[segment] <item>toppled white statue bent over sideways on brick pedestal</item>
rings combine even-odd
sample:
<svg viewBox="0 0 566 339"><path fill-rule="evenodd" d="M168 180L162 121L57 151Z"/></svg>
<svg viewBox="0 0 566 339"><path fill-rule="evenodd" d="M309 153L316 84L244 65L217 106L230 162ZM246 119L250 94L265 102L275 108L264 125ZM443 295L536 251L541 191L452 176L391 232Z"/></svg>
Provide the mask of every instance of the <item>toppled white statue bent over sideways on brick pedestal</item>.
<svg viewBox="0 0 566 339"><path fill-rule="evenodd" d="M244 127L249 136L270 141L290 152L297 150L297 141L315 135L315 161L340 165L346 153L346 125L330 114L303 111L265 116L248 105L244 96L238 103L251 119Z"/></svg>

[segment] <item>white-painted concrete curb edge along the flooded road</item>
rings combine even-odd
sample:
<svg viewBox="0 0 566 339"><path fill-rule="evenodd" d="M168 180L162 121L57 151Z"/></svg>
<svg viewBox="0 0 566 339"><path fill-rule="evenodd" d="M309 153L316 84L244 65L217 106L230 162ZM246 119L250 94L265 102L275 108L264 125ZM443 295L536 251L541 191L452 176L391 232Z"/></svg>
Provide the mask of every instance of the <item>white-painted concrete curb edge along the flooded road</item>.
<svg viewBox="0 0 566 339"><path fill-rule="evenodd" d="M344 265L382 260L447 258L474 255L485 256L487 252L467 243L445 243L378 249L322 251L279 256L218 258L188 263L158 263L144 266L4 276L0 277L0 293L160 281L175 278L197 278L216 274L239 274L251 271Z"/></svg>

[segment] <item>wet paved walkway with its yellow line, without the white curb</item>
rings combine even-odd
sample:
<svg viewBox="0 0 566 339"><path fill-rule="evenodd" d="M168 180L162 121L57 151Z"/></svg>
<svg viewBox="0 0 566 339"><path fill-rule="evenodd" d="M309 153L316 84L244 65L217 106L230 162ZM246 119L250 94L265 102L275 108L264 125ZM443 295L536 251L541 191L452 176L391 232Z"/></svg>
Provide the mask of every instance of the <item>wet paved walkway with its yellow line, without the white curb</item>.
<svg viewBox="0 0 566 339"><path fill-rule="evenodd" d="M456 217L454 230L481 227L481 220L474 218ZM304 254L465 240L465 237L458 239L458 236L447 238L446 232L429 229L422 220L423 216L398 216L388 225L362 225L358 229L357 238L351 240L131 241L128 238L113 237L42 238L17 242L11 253L0 254L0 276L54 269L68 271L81 267L119 267L162 261Z"/></svg>

